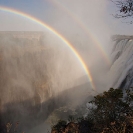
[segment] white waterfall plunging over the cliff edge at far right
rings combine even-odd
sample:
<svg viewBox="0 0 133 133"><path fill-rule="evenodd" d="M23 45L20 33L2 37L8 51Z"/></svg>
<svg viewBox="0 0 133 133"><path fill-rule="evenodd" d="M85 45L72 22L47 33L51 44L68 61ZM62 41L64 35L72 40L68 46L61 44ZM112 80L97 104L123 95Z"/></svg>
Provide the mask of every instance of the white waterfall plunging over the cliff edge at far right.
<svg viewBox="0 0 133 133"><path fill-rule="evenodd" d="M133 86L133 36L114 36L112 66L109 71L112 87Z"/></svg>

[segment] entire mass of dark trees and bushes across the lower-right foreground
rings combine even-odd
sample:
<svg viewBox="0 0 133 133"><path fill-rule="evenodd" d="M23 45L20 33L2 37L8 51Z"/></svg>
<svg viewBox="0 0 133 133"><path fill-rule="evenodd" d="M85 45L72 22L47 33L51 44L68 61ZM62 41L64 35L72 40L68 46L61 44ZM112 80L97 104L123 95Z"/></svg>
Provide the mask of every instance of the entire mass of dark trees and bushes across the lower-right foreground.
<svg viewBox="0 0 133 133"><path fill-rule="evenodd" d="M58 122L53 127L52 133L55 133L55 127L56 133L132 133L132 102L132 88L124 93L121 89L110 88L88 103L87 117L63 126Z"/></svg>

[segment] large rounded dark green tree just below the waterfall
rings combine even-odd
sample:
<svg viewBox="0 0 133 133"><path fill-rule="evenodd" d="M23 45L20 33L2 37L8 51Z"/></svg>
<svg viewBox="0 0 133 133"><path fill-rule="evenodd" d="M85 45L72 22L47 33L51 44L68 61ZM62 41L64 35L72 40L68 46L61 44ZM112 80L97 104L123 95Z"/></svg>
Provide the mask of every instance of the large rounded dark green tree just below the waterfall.
<svg viewBox="0 0 133 133"><path fill-rule="evenodd" d="M127 90L123 94L121 89L110 88L109 91L95 96L94 100L89 102L90 107L93 108L89 108L88 117L93 119L98 131L114 127L120 132L124 130L127 117L132 116L133 113L130 106L130 103L133 102L133 94L130 92Z"/></svg>

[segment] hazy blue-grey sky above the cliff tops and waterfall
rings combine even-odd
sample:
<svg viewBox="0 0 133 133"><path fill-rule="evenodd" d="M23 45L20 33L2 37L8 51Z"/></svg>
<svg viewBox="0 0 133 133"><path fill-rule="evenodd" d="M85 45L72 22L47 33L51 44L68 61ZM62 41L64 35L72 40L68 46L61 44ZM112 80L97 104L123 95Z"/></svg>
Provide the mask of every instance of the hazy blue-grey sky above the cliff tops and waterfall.
<svg viewBox="0 0 133 133"><path fill-rule="evenodd" d="M133 34L133 25L112 17L116 9L109 0L0 0L0 6L29 14L59 32L81 29L82 22L96 36L103 30L109 30L111 34ZM0 11L0 18L0 30L40 30L32 22L12 13Z"/></svg>

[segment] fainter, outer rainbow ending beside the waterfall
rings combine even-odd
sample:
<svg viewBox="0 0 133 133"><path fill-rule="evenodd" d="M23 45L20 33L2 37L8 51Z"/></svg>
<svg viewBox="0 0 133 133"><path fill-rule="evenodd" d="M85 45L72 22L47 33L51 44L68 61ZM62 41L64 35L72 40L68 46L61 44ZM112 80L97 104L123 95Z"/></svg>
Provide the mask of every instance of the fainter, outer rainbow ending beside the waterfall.
<svg viewBox="0 0 133 133"><path fill-rule="evenodd" d="M64 12L66 12L81 27L81 29L83 29L83 31L92 39L92 42L94 42L94 44L96 45L96 47L99 49L99 51L101 52L103 58L105 59L106 63L108 64L108 66L110 66L111 62L110 62L110 59L107 56L105 50L100 45L100 43L96 39L96 37L94 37L94 35L89 32L87 26L83 23L83 21L81 21L81 19L76 14L74 14L73 12L70 12L70 10L67 9L59 1L53 0L52 2L50 1L50 3L53 4L53 5L56 5L58 8L61 8Z"/></svg>

